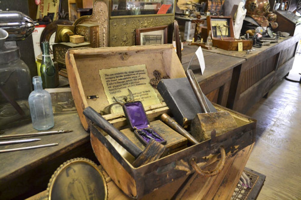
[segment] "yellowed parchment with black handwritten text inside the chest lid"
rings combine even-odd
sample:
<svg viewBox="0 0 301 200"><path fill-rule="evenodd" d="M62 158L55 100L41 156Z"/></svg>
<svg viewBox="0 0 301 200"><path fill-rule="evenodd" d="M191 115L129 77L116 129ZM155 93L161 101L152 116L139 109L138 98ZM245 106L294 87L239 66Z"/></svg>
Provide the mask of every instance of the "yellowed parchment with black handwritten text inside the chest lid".
<svg viewBox="0 0 301 200"><path fill-rule="evenodd" d="M141 101L144 107L159 104L160 100L150 84L145 65L100 69L99 75L104 86L104 92L110 104L114 103L114 96L123 100L129 98L130 89L135 101ZM113 106L114 113L123 112L121 106Z"/></svg>

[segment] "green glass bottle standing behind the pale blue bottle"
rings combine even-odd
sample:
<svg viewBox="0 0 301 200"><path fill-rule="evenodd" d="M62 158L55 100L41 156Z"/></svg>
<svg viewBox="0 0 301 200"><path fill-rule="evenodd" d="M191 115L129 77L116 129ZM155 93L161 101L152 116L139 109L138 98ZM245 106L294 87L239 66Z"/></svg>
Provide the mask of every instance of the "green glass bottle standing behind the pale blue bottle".
<svg viewBox="0 0 301 200"><path fill-rule="evenodd" d="M41 63L41 78L43 88L55 87L55 68L52 59L49 55L49 42L42 42L42 63Z"/></svg>

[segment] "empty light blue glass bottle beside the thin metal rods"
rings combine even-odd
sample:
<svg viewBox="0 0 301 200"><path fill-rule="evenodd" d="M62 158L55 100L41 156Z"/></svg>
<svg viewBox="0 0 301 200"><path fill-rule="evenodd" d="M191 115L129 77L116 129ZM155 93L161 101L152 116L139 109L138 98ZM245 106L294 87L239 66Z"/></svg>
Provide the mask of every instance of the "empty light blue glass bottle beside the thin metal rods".
<svg viewBox="0 0 301 200"><path fill-rule="evenodd" d="M28 98L33 128L48 130L54 126L51 96L43 89L40 76L33 77L33 87Z"/></svg>

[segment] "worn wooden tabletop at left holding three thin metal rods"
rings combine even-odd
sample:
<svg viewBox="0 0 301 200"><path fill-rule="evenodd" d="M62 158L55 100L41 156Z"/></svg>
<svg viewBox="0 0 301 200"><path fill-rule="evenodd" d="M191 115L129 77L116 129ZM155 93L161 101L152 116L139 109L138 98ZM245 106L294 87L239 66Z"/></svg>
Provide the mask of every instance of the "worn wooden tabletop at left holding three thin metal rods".
<svg viewBox="0 0 301 200"><path fill-rule="evenodd" d="M54 127L50 130L70 129L73 132L32 137L42 140L31 143L0 146L0 149L10 149L59 144L53 147L0 153L0 199L21 199L45 190L51 175L68 159L86 157L97 162L89 134L82 128L77 113L57 115L54 121ZM3 131L5 135L37 132L32 123Z"/></svg>

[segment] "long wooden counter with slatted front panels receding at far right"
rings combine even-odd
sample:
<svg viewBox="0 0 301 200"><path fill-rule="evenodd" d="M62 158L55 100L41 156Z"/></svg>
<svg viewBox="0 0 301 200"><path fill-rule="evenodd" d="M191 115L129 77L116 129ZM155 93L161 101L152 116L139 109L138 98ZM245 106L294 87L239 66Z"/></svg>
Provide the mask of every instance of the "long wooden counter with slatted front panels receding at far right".
<svg viewBox="0 0 301 200"><path fill-rule="evenodd" d="M219 48L203 49L204 52L245 59L233 68L227 108L245 113L266 95L291 70L299 40L300 35L279 39L270 46L253 47L255 51L250 54Z"/></svg>

